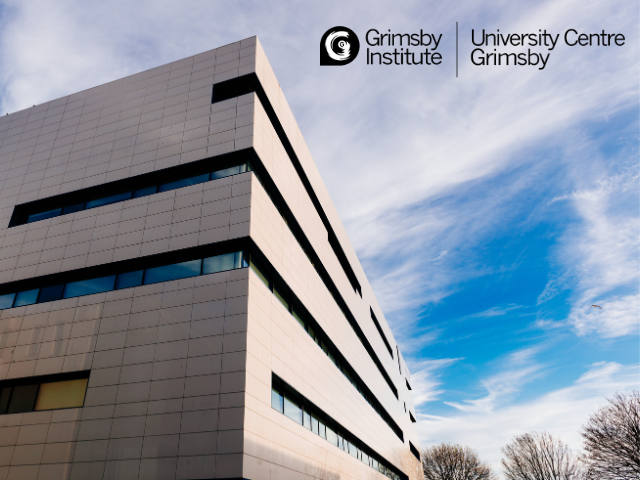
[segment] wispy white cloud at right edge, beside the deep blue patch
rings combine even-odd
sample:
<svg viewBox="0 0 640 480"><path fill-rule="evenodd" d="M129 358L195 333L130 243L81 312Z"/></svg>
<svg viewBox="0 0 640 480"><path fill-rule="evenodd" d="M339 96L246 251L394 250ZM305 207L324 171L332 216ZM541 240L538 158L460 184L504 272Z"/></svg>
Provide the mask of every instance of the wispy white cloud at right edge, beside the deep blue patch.
<svg viewBox="0 0 640 480"><path fill-rule="evenodd" d="M579 335L611 338L640 330L640 220L623 203L625 197L637 199L637 183L634 166L555 199L570 202L582 222L561 239L555 258L562 273L550 280L538 303L573 288L568 321Z"/></svg>

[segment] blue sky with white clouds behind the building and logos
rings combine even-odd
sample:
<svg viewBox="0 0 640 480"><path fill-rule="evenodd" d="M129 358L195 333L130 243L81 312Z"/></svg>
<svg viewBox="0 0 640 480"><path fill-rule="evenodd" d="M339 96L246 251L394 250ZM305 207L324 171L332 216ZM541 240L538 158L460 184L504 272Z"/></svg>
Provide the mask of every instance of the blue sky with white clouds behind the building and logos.
<svg viewBox="0 0 640 480"><path fill-rule="evenodd" d="M0 0L0 114L258 35L411 369L422 446L468 445L498 467L526 432L579 451L589 415L640 388L639 10ZM321 67L334 26L360 55ZM442 34L442 64L367 65L371 28ZM625 45L561 38L532 48L543 70L470 61L471 29L571 28Z"/></svg>

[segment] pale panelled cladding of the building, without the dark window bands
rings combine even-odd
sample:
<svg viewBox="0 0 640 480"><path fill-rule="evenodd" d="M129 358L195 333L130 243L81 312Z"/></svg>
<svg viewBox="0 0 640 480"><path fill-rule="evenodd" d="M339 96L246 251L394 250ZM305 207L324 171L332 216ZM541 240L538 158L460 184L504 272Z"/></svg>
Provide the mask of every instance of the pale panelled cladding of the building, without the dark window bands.
<svg viewBox="0 0 640 480"><path fill-rule="evenodd" d="M214 83L254 72L362 298L257 95L211 105ZM15 205L204 158L215 165L245 149L300 223L399 400L253 173L8 228ZM256 37L0 117L0 284L249 235L418 446L402 408L404 376L370 306L395 347L393 336ZM0 480L324 478L325 468L384 478L272 410L272 371L403 468L400 441L249 269L0 312L0 380L84 369L84 408L0 416Z"/></svg>

